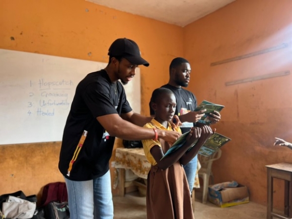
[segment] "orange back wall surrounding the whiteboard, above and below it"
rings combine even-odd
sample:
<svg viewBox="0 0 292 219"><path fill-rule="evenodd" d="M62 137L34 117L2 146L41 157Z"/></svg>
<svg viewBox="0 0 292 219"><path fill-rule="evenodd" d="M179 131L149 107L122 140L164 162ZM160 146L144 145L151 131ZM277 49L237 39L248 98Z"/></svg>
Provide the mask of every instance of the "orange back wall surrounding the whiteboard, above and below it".
<svg viewBox="0 0 292 219"><path fill-rule="evenodd" d="M181 27L84 0L1 1L0 29L2 49L102 62L108 62L115 39L133 39L150 62L150 67L140 67L144 115L149 115L152 91L168 80L168 63L183 54ZM45 184L63 181L57 169L59 150L60 142L0 145L0 194L39 194Z"/></svg>

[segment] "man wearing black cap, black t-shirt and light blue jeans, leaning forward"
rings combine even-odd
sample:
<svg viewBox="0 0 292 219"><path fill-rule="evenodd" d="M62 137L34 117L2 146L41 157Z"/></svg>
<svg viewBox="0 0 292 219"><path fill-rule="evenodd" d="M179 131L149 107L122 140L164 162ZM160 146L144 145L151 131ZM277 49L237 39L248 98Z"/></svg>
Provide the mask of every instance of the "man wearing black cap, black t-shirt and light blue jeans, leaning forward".
<svg viewBox="0 0 292 219"><path fill-rule="evenodd" d="M127 84L138 65L149 66L138 45L120 38L112 43L108 55L105 69L88 74L78 84L64 128L59 170L67 186L71 219L113 218L109 159L115 137L160 137L174 142L180 135L140 127L152 117L133 112L126 99L118 80Z"/></svg>

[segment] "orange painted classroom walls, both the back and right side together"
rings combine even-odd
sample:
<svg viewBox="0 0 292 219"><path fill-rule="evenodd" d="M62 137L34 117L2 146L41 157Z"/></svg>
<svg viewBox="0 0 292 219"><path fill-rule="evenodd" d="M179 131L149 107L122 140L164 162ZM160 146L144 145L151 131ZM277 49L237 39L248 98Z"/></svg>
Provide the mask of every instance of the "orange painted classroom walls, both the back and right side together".
<svg viewBox="0 0 292 219"><path fill-rule="evenodd" d="M292 141L291 76L233 86L225 83L291 70L291 11L290 0L280 4L277 0L237 0L180 28L84 0L3 0L0 48L107 62L113 40L133 39L151 63L148 68L141 67L143 115L149 115L152 91L168 82L170 61L185 56L193 69L188 89L198 101L226 106L216 128L232 141L213 166L215 182L236 180L250 188L253 201L265 203L264 166L292 163L292 151L272 146L274 136ZM289 47L210 66L214 61L281 43L289 43ZM116 147L121 147L120 141ZM0 194L20 189L27 195L38 194L45 184L61 181L59 149L60 142L0 146ZM277 203L282 203L281 186L281 182L276 183Z"/></svg>

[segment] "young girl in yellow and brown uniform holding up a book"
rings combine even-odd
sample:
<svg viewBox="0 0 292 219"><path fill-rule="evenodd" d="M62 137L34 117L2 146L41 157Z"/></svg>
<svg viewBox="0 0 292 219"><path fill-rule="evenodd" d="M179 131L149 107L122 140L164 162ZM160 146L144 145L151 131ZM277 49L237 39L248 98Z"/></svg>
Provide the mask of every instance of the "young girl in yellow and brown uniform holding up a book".
<svg viewBox="0 0 292 219"><path fill-rule="evenodd" d="M156 89L151 98L151 107L155 118L144 125L147 128L173 130L170 125L176 99L173 92L166 88ZM181 132L179 127L175 131ZM192 219L194 218L191 197L183 165L196 156L203 143L211 136L209 126L193 127L186 142L172 154L161 158L171 145L163 139L142 140L145 156L152 164L147 184L147 218L148 219ZM195 146L187 150L196 141Z"/></svg>

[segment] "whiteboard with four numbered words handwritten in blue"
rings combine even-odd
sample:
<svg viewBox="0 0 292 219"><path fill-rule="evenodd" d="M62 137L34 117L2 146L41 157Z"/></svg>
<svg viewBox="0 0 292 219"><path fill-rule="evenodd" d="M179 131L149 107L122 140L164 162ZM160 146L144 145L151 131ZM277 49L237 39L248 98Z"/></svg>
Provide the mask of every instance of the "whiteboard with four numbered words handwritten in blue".
<svg viewBox="0 0 292 219"><path fill-rule="evenodd" d="M107 63L0 49L0 144L61 141L78 83ZM124 86L140 113L140 69Z"/></svg>

